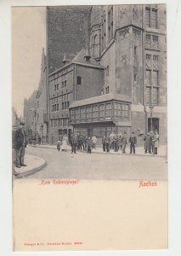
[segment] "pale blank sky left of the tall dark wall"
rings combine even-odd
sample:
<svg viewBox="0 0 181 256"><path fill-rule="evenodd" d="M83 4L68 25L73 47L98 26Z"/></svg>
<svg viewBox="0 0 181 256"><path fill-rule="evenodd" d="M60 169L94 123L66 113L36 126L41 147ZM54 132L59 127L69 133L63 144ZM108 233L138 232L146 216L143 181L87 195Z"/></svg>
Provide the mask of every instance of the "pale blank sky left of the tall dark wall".
<svg viewBox="0 0 181 256"><path fill-rule="evenodd" d="M24 99L37 90L42 48L46 49L46 8L13 7L12 105L23 116Z"/></svg>

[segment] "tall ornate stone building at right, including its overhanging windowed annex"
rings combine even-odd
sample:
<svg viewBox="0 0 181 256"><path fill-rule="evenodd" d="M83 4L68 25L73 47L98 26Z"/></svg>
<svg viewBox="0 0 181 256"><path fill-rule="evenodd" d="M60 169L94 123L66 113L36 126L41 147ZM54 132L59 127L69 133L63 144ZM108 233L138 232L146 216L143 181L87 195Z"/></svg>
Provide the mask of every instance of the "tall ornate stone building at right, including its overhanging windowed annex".
<svg viewBox="0 0 181 256"><path fill-rule="evenodd" d="M158 130L165 143L166 5L93 6L90 20L90 52L105 67L104 96L73 102L71 125L97 137L135 131L140 143L145 131Z"/></svg>

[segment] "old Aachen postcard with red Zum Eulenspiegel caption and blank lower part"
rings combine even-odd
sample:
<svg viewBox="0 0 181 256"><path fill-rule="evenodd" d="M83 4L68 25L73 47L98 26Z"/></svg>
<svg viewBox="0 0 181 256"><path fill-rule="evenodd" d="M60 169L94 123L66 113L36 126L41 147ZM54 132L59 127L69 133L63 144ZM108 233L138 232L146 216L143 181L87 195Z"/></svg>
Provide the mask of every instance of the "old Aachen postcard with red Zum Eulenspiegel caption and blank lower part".
<svg viewBox="0 0 181 256"><path fill-rule="evenodd" d="M11 22L14 251L167 249L167 5Z"/></svg>

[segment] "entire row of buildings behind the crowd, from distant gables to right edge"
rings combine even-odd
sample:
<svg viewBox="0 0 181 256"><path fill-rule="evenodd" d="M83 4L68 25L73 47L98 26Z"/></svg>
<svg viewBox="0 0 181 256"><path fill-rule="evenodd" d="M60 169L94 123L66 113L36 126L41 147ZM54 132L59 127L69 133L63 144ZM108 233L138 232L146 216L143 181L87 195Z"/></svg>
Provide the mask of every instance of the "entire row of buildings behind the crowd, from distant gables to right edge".
<svg viewBox="0 0 181 256"><path fill-rule="evenodd" d="M79 131L167 141L166 5L47 8L47 53L25 99L25 129L44 143ZM72 22L73 21L73 22Z"/></svg>

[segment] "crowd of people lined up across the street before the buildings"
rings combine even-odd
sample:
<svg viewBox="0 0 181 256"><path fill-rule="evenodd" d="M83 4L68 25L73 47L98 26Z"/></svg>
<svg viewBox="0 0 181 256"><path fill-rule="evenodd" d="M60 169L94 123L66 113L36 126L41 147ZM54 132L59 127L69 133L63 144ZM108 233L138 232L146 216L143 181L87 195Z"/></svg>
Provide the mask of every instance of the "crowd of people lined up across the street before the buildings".
<svg viewBox="0 0 181 256"><path fill-rule="evenodd" d="M96 148L96 143L97 138L94 135L92 137L86 137L79 132L76 132L71 134L70 139L68 139L67 135L60 137L57 142L57 149L61 149L62 151L66 152L69 145L71 145L71 154L76 154L77 150L87 151L88 154L91 154L92 149ZM122 154L126 154L127 144L129 145L129 154L136 154L137 137L134 131L130 137L127 137L126 131L124 131L123 134L115 134L113 131L111 131L109 135L102 138L103 152L110 152L110 150L118 152L121 150ZM144 136L144 154L158 154L158 144L158 131L148 131Z"/></svg>

